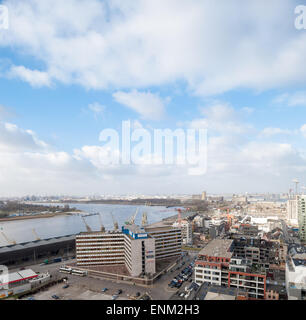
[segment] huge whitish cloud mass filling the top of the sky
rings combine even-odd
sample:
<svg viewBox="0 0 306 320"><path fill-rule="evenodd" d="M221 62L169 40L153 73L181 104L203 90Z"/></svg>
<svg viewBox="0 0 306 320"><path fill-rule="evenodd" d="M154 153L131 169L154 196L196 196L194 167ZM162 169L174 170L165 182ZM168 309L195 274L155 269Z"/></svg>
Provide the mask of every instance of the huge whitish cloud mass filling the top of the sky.
<svg viewBox="0 0 306 320"><path fill-rule="evenodd" d="M143 90L183 80L199 95L265 90L306 82L295 2L6 0L10 32L0 45L45 66L13 68L35 86Z"/></svg>

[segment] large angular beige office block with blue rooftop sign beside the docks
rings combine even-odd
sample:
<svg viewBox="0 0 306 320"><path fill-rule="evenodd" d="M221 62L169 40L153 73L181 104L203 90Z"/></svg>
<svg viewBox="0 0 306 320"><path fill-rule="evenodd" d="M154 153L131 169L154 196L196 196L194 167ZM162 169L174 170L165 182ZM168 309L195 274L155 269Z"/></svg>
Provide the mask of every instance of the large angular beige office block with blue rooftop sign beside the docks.
<svg viewBox="0 0 306 320"><path fill-rule="evenodd" d="M77 266L125 266L131 276L156 273L156 262L181 255L181 230L165 225L135 224L116 232L76 236Z"/></svg>

